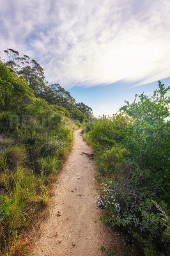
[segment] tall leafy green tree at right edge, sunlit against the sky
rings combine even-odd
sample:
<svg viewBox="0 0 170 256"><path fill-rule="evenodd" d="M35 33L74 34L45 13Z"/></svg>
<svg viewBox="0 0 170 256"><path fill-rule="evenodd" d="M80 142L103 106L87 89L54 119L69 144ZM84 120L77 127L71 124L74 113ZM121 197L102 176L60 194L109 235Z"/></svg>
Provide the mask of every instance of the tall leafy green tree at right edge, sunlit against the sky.
<svg viewBox="0 0 170 256"><path fill-rule="evenodd" d="M170 97L166 93L170 86L158 82L158 89L150 98L141 93L137 102L123 106L120 110L132 118L123 143L131 152L132 159L141 170L148 170L150 177L157 180L159 193L167 196L167 173L169 172L169 116Z"/></svg>

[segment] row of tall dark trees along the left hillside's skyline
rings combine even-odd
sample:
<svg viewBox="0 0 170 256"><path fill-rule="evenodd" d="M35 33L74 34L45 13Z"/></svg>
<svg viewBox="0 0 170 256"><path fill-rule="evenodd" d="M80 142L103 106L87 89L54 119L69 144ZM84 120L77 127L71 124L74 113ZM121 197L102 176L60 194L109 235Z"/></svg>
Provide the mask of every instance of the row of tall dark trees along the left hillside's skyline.
<svg viewBox="0 0 170 256"><path fill-rule="evenodd" d="M75 99L70 95L70 93L62 88L59 84L50 84L47 86L46 83L48 82L45 80L43 68L35 60L30 60L29 56L27 55L20 57L19 52L13 49L7 49L4 52L6 52L6 55L8 56L8 61L6 61L4 64L6 67L8 67L9 76L10 73L12 73L13 76L15 74L15 77L20 76L20 79L22 79L25 83L27 82L27 86L33 90L36 98L39 97L48 102L48 104L55 105L53 109L56 110L58 108L58 111L65 113L66 116L70 116L70 113L73 110L78 109L81 111L81 115L84 114L84 118L93 118L92 109L82 102L75 103ZM3 65L2 62L1 64ZM17 81L17 83L18 82L19 81ZM8 88L10 87L8 81L3 81L3 83L3 87L7 85ZM16 90L15 86L14 89ZM25 89L26 88L24 87L24 90ZM4 99L4 95L2 99ZM28 102L28 104L30 103Z"/></svg>

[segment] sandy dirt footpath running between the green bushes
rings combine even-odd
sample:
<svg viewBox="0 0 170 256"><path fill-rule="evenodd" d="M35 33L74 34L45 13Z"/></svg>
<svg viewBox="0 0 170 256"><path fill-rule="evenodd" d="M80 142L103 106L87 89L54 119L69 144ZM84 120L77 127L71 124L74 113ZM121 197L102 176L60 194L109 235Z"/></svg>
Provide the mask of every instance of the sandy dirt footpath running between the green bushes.
<svg viewBox="0 0 170 256"><path fill-rule="evenodd" d="M113 234L99 220L95 161L82 152L92 152L75 131L73 150L55 185L49 219L43 223L42 236L35 243L35 256L98 256L98 248L112 241ZM96 223L97 221L97 223ZM107 244L105 244L105 242Z"/></svg>

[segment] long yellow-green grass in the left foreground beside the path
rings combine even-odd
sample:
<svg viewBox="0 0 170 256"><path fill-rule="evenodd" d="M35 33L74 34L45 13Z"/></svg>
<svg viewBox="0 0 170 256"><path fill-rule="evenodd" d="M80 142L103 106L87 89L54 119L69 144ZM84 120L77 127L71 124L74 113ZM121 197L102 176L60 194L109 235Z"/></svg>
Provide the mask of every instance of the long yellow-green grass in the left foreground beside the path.
<svg viewBox="0 0 170 256"><path fill-rule="evenodd" d="M40 179L31 170L22 166L15 170L9 167L1 170L0 189L3 193L0 196L1 255L5 253L16 255L13 252L13 244L19 245L22 232L29 223L35 223L35 214L43 204L43 197L47 191L45 182L44 177Z"/></svg>

